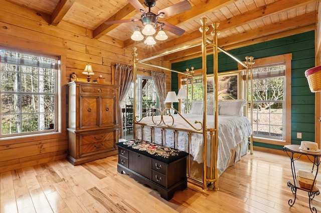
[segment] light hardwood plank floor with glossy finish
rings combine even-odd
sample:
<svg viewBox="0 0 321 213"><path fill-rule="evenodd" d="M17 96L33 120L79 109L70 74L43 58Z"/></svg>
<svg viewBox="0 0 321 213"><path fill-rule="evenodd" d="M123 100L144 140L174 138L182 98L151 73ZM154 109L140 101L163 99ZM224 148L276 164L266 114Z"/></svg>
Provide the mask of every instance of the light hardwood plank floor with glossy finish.
<svg viewBox="0 0 321 213"><path fill-rule="evenodd" d="M298 161L296 168L310 169ZM219 178L219 190L188 184L166 201L117 173L117 155L74 166L66 160L0 173L0 212L310 212L307 192L293 198L287 156L254 151ZM317 186L321 188L321 175ZM320 184L319 184L320 183ZM321 195L312 206L321 212Z"/></svg>

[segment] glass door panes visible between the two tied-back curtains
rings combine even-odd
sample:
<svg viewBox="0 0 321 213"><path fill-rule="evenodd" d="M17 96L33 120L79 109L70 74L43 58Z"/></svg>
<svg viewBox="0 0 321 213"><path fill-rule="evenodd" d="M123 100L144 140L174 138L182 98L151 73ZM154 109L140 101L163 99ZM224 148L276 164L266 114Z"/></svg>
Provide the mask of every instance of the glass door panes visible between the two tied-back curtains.
<svg viewBox="0 0 321 213"><path fill-rule="evenodd" d="M125 99L122 102L123 112L123 138L132 138L132 120L133 120L133 99L134 84L132 83ZM158 107L158 97L156 88L153 86L153 80L149 76L137 75L137 112L139 118L142 116L150 116L153 107Z"/></svg>

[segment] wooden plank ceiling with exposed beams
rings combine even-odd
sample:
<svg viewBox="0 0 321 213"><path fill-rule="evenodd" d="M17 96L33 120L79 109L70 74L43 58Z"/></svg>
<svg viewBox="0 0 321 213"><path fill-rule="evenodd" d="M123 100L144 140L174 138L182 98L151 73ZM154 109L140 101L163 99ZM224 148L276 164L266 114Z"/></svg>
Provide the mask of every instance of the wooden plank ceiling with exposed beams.
<svg viewBox="0 0 321 213"><path fill-rule="evenodd" d="M189 0L192 9L159 18L181 27L181 36L166 31L169 38L149 46L143 41L130 39L140 21L106 25L107 20L140 18L127 0L9 0L35 11L50 15L49 24L59 27L62 22L76 24L92 30L93 39L115 39L124 48L136 46L147 54L157 55L169 50L201 43L201 18L207 17L208 25L219 22L219 46L228 50L261 41L284 37L315 29L318 0ZM143 0L139 0L143 4ZM176 4L182 0L157 0L151 11ZM209 30L210 33L211 29ZM196 46L168 54L168 60L178 60L200 52Z"/></svg>

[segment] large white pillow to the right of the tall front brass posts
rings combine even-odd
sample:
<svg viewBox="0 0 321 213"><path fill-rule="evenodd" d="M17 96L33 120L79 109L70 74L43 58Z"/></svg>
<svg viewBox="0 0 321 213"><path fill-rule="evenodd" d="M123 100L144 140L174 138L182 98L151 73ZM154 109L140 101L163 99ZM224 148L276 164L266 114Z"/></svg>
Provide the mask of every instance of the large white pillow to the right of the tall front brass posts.
<svg viewBox="0 0 321 213"><path fill-rule="evenodd" d="M220 100L219 115L243 116L243 106L246 100Z"/></svg>

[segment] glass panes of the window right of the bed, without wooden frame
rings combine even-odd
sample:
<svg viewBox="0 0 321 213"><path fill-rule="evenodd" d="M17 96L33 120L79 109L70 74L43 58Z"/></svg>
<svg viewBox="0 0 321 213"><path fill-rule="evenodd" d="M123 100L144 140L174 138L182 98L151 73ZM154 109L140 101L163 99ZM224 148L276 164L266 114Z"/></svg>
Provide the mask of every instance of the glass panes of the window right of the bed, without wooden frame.
<svg viewBox="0 0 321 213"><path fill-rule="evenodd" d="M253 68L253 74L253 135L284 140L285 65Z"/></svg>

